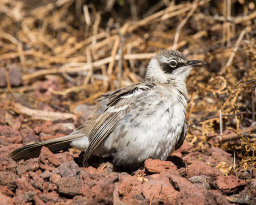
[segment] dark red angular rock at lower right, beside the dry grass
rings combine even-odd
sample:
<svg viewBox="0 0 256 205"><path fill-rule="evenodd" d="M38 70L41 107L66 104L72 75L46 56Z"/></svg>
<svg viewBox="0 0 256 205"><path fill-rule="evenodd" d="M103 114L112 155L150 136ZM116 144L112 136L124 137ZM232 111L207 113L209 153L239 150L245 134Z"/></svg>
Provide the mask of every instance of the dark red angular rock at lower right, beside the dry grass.
<svg viewBox="0 0 256 205"><path fill-rule="evenodd" d="M218 188L225 193L233 193L237 191L239 187L245 184L244 181L240 180L234 175L229 175L229 176L219 175L216 178L215 183L217 184Z"/></svg>

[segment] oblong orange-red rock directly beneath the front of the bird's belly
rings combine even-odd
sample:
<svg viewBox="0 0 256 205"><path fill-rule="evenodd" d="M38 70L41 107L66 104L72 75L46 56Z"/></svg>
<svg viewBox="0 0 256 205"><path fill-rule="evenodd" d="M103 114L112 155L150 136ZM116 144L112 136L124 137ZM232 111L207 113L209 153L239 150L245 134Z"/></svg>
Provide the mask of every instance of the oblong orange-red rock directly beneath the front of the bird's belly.
<svg viewBox="0 0 256 205"><path fill-rule="evenodd" d="M151 173L160 173L162 171L168 171L169 169L176 169L177 166L171 161L161 161L160 159L146 159L145 168Z"/></svg>

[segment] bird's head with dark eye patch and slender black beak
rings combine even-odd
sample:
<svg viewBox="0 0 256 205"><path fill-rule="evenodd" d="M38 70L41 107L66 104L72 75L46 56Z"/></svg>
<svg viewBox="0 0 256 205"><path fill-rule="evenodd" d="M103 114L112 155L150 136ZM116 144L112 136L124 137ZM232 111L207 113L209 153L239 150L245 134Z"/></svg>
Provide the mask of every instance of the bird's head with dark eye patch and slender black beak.
<svg viewBox="0 0 256 205"><path fill-rule="evenodd" d="M191 69L206 62L188 60L177 50L161 50L148 63L145 80L159 83L185 83Z"/></svg>

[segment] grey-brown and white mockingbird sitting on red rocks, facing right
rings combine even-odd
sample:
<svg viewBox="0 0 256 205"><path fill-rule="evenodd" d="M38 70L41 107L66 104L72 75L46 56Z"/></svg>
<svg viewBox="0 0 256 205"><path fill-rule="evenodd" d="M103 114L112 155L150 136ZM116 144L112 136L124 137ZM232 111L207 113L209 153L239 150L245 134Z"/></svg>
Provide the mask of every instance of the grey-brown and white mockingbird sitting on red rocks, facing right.
<svg viewBox="0 0 256 205"><path fill-rule="evenodd" d="M83 166L97 154L109 154L117 167L130 169L147 158L166 160L185 139L186 78L197 66L207 63L163 49L149 60L143 81L100 95L82 126L66 136L17 148L9 157L37 157L46 146L52 152L71 147L85 151Z"/></svg>

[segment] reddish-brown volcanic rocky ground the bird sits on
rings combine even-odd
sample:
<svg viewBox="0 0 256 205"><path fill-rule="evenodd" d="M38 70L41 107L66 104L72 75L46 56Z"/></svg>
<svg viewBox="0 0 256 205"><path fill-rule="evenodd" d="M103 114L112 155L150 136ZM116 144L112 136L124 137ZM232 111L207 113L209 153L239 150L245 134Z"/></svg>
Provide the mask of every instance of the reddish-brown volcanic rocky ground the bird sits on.
<svg viewBox="0 0 256 205"><path fill-rule="evenodd" d="M45 121L23 128L21 115L2 113L1 123L8 119L12 126L0 125L1 204L256 203L256 180L249 180L255 172L230 174L232 155L214 146L202 152L184 142L167 161L147 159L133 175L115 171L109 157L93 156L82 167L82 154L74 149L53 154L42 147L39 157L14 161L8 153L21 142L67 134L73 124Z"/></svg>

